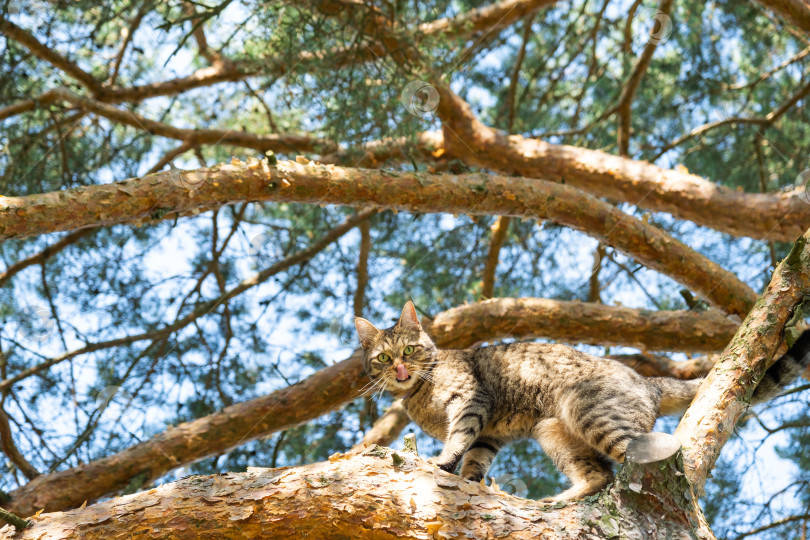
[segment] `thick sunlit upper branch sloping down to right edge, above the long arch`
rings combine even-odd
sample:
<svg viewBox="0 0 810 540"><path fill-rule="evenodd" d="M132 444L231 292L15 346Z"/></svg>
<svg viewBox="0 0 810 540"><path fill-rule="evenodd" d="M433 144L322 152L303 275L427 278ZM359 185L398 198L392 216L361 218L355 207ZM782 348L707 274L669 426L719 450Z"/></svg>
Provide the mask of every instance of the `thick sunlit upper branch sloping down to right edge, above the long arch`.
<svg viewBox="0 0 810 540"><path fill-rule="evenodd" d="M699 176L598 150L506 135L483 125L469 105L434 80L443 148L469 165L565 182L597 197L669 212L736 236L792 241L810 226L810 205L797 191L741 193ZM433 144L438 141L433 138Z"/></svg>

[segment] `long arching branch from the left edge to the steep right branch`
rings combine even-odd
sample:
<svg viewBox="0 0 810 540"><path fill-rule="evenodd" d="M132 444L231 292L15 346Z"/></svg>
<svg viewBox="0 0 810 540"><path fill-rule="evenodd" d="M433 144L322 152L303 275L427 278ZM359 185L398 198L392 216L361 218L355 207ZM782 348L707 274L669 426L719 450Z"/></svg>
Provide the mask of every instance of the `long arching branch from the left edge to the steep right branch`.
<svg viewBox="0 0 810 540"><path fill-rule="evenodd" d="M593 236L744 316L756 294L731 272L657 227L578 189L485 174L430 175L332 165L234 161L123 182L0 199L0 240L89 226L174 218L241 201L376 206L548 219Z"/></svg>

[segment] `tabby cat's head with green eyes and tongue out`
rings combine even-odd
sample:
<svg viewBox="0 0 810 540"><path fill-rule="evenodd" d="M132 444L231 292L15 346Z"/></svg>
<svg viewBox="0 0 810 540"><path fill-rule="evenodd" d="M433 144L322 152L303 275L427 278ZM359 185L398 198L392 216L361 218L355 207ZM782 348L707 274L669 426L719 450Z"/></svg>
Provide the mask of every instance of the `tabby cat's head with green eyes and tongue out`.
<svg viewBox="0 0 810 540"><path fill-rule="evenodd" d="M436 347L422 330L411 302L391 328L379 330L360 317L354 324L365 351L363 367L375 383L372 388L398 394L429 377Z"/></svg>

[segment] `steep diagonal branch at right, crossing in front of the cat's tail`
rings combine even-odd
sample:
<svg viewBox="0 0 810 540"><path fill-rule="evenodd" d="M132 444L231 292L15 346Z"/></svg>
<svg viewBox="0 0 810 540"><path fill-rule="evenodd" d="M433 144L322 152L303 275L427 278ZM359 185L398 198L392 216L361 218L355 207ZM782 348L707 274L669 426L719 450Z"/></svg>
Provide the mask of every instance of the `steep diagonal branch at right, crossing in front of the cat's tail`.
<svg viewBox="0 0 810 540"><path fill-rule="evenodd" d="M700 491L720 450L782 343L794 308L810 294L810 231L774 270L771 282L700 386L675 435L686 473Z"/></svg>

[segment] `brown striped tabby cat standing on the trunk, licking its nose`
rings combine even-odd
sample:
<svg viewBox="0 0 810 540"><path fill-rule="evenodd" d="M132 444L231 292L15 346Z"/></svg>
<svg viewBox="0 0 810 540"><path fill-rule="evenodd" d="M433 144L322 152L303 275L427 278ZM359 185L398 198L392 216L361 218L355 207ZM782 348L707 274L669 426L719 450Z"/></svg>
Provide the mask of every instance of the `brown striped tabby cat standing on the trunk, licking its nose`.
<svg viewBox="0 0 810 540"><path fill-rule="evenodd" d="M613 479L628 443L656 418L686 410L700 379L643 377L615 360L563 345L512 343L437 349L411 302L379 330L355 319L372 388L388 390L411 420L444 441L434 463L481 480L505 444L532 437L572 483L550 500L596 493ZM753 402L774 397L810 364L810 331L765 374ZM612 460L612 461L611 461Z"/></svg>

